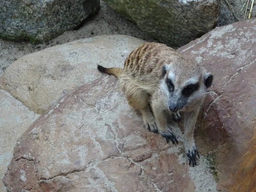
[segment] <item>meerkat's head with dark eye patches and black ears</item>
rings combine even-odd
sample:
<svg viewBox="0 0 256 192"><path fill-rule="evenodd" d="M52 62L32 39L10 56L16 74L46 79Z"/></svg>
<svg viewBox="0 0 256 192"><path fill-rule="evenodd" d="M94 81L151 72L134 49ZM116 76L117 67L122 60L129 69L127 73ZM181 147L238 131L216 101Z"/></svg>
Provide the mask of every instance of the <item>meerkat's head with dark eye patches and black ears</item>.
<svg viewBox="0 0 256 192"><path fill-rule="evenodd" d="M185 59L164 64L161 89L166 93L171 112L190 111L202 105L213 76L204 67Z"/></svg>

